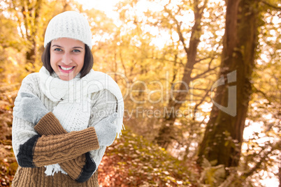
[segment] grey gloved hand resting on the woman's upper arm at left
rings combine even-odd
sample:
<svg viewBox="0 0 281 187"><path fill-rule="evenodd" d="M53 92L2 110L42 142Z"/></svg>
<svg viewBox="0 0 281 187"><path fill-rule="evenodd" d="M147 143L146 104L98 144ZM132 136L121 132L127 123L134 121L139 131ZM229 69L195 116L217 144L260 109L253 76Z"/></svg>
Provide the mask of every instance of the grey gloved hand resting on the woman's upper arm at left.
<svg viewBox="0 0 281 187"><path fill-rule="evenodd" d="M41 100L32 93L22 92L20 96L15 98L15 107L13 108L15 117L37 124L48 112Z"/></svg>

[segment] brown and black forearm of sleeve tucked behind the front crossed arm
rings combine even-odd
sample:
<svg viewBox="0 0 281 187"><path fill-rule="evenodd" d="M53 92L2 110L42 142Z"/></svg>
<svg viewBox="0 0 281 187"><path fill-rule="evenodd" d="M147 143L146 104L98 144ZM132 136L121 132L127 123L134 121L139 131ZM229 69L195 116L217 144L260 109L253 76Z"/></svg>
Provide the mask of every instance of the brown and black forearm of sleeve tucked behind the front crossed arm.
<svg viewBox="0 0 281 187"><path fill-rule="evenodd" d="M46 114L34 127L39 135L59 135L67 133L52 112ZM59 163L71 179L84 182L96 171L96 164L89 156L89 152L72 160Z"/></svg>

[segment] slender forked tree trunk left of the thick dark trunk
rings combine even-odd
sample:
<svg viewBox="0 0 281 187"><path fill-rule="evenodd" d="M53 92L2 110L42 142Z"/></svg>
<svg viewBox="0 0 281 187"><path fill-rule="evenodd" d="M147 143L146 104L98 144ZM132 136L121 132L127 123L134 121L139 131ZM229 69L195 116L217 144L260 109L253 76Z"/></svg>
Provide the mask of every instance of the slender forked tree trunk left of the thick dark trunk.
<svg viewBox="0 0 281 187"><path fill-rule="evenodd" d="M185 70L182 76L182 80L180 83L179 90L187 90L189 83L192 81L192 70L194 69L194 65L196 63L196 53L197 48L200 43L201 37L201 18L203 15L203 10L206 7L207 1L204 1L203 6L199 7L199 1L194 0L194 26L192 27L192 34L189 40L189 48L187 49L185 44L185 38L182 36L182 31L180 30L180 23L177 22L178 26L178 35L182 45L184 46L185 53L187 54L187 63L185 64ZM178 92L175 96L170 96L167 105L167 111L171 115L165 114L165 118L161 124L161 128L157 137L155 137L154 142L160 147L164 147L165 149L168 147L168 144L171 143L171 140L174 139L173 135L173 124L175 123L175 112L180 109L182 103L185 103L187 98L187 91L186 92ZM173 111L173 112L171 112Z"/></svg>

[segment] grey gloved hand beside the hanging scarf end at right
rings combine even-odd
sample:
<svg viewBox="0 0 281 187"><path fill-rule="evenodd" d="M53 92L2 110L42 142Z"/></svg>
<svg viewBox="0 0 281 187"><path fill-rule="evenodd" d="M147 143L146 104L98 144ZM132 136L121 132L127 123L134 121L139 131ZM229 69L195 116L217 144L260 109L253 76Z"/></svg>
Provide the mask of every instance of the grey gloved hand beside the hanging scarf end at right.
<svg viewBox="0 0 281 187"><path fill-rule="evenodd" d="M114 113L94 126L99 146L110 146L110 144L113 144L117 135L117 125L114 124L116 118L117 113Z"/></svg>

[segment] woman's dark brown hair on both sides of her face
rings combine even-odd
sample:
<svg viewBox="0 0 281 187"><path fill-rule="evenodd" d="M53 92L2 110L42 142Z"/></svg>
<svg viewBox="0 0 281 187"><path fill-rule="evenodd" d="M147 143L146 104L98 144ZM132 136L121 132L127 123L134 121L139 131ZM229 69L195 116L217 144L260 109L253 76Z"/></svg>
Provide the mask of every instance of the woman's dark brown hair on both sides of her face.
<svg viewBox="0 0 281 187"><path fill-rule="evenodd" d="M45 47L45 50L42 54L41 60L43 62L43 66L51 73L54 72L51 66L50 62L50 47L51 47L51 42L48 43ZM89 46L85 44L85 57L84 57L84 65L82 69L80 70L80 78L84 77L89 73L89 71L93 68L94 65L94 57L89 49Z"/></svg>

